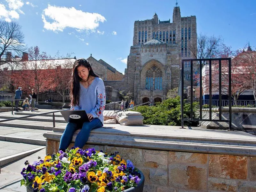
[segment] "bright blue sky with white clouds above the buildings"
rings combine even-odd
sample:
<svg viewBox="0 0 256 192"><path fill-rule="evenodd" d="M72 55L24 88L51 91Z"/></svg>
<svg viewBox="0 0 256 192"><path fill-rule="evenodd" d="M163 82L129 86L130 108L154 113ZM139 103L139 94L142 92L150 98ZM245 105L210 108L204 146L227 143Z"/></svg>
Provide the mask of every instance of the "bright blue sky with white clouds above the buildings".
<svg viewBox="0 0 256 192"><path fill-rule="evenodd" d="M22 26L27 47L51 56L104 60L119 72L126 68L135 20L172 22L176 0L0 0L0 20ZM221 36L233 50L256 47L255 0L178 0L181 17L196 15L197 34Z"/></svg>

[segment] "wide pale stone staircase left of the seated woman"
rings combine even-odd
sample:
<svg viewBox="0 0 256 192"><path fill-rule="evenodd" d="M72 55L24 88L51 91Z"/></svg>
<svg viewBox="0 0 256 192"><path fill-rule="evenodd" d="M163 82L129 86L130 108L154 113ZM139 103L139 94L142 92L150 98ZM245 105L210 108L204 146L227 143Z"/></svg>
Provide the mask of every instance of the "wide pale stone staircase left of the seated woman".
<svg viewBox="0 0 256 192"><path fill-rule="evenodd" d="M25 117L0 123L0 168L45 148L46 139L43 134L53 129L52 114L27 116L49 111L51 110L19 111L14 112L14 115L11 112L0 113L0 120ZM54 115L55 126L65 128L67 123L62 115L60 113Z"/></svg>

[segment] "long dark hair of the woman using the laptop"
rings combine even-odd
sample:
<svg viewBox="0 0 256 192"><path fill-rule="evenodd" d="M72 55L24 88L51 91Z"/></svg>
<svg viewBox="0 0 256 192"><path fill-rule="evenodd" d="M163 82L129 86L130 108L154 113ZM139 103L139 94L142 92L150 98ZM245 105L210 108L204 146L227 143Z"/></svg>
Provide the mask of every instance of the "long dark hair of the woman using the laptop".
<svg viewBox="0 0 256 192"><path fill-rule="evenodd" d="M86 59L77 59L74 62L73 70L72 70L72 78L70 80L70 106L76 106L79 105L79 99L80 99L80 81L82 79L77 74L77 67L84 66L89 70L89 75L87 77L87 81L89 80L90 76L99 77L97 76L93 70L92 66Z"/></svg>

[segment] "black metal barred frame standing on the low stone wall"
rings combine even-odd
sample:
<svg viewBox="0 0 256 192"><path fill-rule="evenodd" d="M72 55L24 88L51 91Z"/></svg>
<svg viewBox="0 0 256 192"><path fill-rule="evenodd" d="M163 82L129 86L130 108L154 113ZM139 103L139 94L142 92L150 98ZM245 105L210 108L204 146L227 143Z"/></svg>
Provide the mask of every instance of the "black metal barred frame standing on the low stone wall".
<svg viewBox="0 0 256 192"><path fill-rule="evenodd" d="M214 58L214 59L183 59L181 61L181 128L184 128L184 121L212 121L212 122L229 122L228 130L231 130L232 126L232 109L229 105L229 119L222 119L221 107L219 108L219 119L212 119L212 61L219 61L219 103L221 103L221 61L228 61L228 99L231 103L231 58ZM199 119L193 119L193 99L190 99L190 118L184 118L184 62L190 61L190 98L193 98L193 61L199 62L200 72L200 117ZM209 61L209 119L202 119L202 61Z"/></svg>

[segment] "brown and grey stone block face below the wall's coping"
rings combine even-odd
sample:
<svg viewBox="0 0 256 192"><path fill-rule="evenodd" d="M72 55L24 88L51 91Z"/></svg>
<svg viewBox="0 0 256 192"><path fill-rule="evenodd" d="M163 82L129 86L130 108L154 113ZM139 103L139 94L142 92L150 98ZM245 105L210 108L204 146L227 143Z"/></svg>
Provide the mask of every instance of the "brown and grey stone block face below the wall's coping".
<svg viewBox="0 0 256 192"><path fill-rule="evenodd" d="M48 140L47 153L58 151L59 141ZM71 144L69 147L72 147ZM85 145L108 153L119 151L145 176L143 192L253 192L256 157Z"/></svg>

